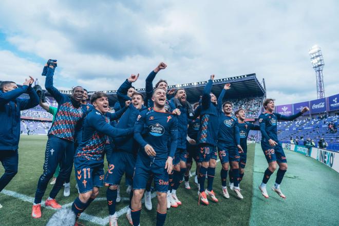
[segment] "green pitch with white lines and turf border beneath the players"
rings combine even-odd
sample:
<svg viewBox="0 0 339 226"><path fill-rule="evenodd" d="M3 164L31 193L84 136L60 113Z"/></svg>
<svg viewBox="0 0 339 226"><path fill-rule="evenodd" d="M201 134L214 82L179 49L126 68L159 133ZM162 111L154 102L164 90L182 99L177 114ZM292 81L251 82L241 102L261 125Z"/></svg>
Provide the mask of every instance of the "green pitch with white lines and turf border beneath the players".
<svg viewBox="0 0 339 226"><path fill-rule="evenodd" d="M23 136L19 147L18 174L0 193L0 225L46 225L54 210L42 208L42 218L32 219L31 208L34 200L36 182L43 172L45 145L47 137ZM165 225L338 225L339 174L320 162L285 149L288 170L281 183L281 191L286 200L271 190L275 175L267 184L269 199L265 199L258 185L267 168L266 159L260 144L249 144L248 160L243 180L240 183L243 200L236 199L230 191L230 199L222 197L220 169L218 163L214 191L218 203L198 206L197 186L194 177L190 178L191 190L181 184L177 194L182 201L178 208L167 212ZM105 166L105 169L107 167ZM195 167L191 172L194 174ZM0 167L0 175L4 169ZM59 192L56 200L63 208L70 208L78 196L74 173L71 177L71 195L64 197ZM125 182L121 182L121 201L117 204L119 225L129 225L125 217L128 208L128 195ZM52 185L48 185L48 197ZM81 215L81 222L87 225L108 225L106 187L100 189L99 197ZM155 194L153 194L155 197ZM156 198L152 199L153 210L144 208L141 212L141 225L155 225Z"/></svg>

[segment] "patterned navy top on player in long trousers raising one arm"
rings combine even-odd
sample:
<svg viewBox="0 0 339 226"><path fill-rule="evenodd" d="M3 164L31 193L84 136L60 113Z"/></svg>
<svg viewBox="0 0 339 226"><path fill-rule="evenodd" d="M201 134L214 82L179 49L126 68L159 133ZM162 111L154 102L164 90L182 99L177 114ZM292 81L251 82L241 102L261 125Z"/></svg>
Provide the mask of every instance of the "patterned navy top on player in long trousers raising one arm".
<svg viewBox="0 0 339 226"><path fill-rule="evenodd" d="M74 107L71 99L53 86L53 74L54 69L48 67L45 88L56 102L58 102L58 112L56 112L54 122L49 129L48 135L52 134L61 139L74 141L76 125L82 120L84 113L80 103L79 107Z"/></svg>

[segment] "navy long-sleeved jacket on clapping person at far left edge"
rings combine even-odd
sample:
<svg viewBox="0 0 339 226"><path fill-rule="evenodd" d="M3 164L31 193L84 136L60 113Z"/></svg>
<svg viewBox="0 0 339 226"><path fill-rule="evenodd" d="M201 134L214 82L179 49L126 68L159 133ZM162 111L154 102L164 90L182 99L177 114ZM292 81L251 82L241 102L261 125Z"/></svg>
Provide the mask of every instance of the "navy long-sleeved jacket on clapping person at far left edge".
<svg viewBox="0 0 339 226"><path fill-rule="evenodd" d="M27 92L29 99L17 98ZM0 150L16 150L20 140L20 111L35 107L39 97L31 85L0 91Z"/></svg>

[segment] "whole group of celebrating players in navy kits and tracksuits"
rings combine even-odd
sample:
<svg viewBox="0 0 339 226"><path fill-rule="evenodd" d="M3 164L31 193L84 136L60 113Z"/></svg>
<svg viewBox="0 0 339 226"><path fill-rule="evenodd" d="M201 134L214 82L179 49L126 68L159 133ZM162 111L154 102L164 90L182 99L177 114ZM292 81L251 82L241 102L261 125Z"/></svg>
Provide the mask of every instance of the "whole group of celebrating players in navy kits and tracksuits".
<svg viewBox="0 0 339 226"><path fill-rule="evenodd" d="M268 162L259 189L264 197L269 198L266 184L278 164L272 190L285 198L279 185L287 170L287 161L277 139L276 123L277 120L294 120L307 111L307 107L296 115L285 117L273 113L274 100L266 99L263 102L266 111L260 115L259 125L253 125L245 122L244 109L235 109L232 115L232 103L222 103L231 84L224 85L218 99L211 92L214 75L205 85L200 101L193 106L186 101L184 89L167 90L165 80L160 80L154 88L156 74L167 66L160 63L146 78L146 97L132 86L139 78L139 74L132 74L118 89L119 102L115 105L115 113L111 113L108 97L103 92L94 93L90 104L86 104L87 90L83 87L74 87L71 97L56 89L53 86L56 66L56 60L49 60L42 74L46 76L45 88L58 102L58 108L50 111L48 106L44 107L53 112L54 119L48 133L43 174L37 181L33 218L42 216L42 198L58 165L59 175L45 205L53 209L62 208L55 197L64 183L65 191L69 187L74 165L79 196L74 200L71 210L76 220L105 184L108 186L109 223L118 225L116 202L119 184L125 174L126 181L131 185L127 212L130 224L140 225L143 196L146 209L152 209L150 186L154 181L158 198L157 225L163 225L167 209L182 204L177 190L183 179L186 189L191 189L188 181L193 159L197 165L199 203L208 205L208 198L218 202L213 190L218 156L222 165L220 177L223 197L230 198L227 187L229 175L230 189L239 199L243 199L239 183L244 175L247 136L251 129L261 131L261 147ZM0 191L17 173L20 111L36 106L39 100L44 105L42 92L37 95L31 87L33 81L33 78L29 78L20 88L11 81L0 85L0 119L6 122L0 129L0 160L5 168L5 174L0 178ZM30 99L19 99L25 92ZM108 161L106 173L105 154ZM79 225L78 221L76 225Z"/></svg>

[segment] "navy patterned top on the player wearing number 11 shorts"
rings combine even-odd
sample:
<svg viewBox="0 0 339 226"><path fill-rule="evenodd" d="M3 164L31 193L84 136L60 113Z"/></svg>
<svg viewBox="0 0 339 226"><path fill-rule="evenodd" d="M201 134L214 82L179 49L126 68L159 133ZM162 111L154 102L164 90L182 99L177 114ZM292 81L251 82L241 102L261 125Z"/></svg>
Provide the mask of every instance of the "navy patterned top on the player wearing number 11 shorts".
<svg viewBox="0 0 339 226"><path fill-rule="evenodd" d="M76 157L84 157L92 160L101 160L103 157L107 135L110 137L127 136L133 134L133 128L117 129L109 124L114 120L115 114L101 114L93 109L87 115L83 125L83 139L77 148Z"/></svg>

